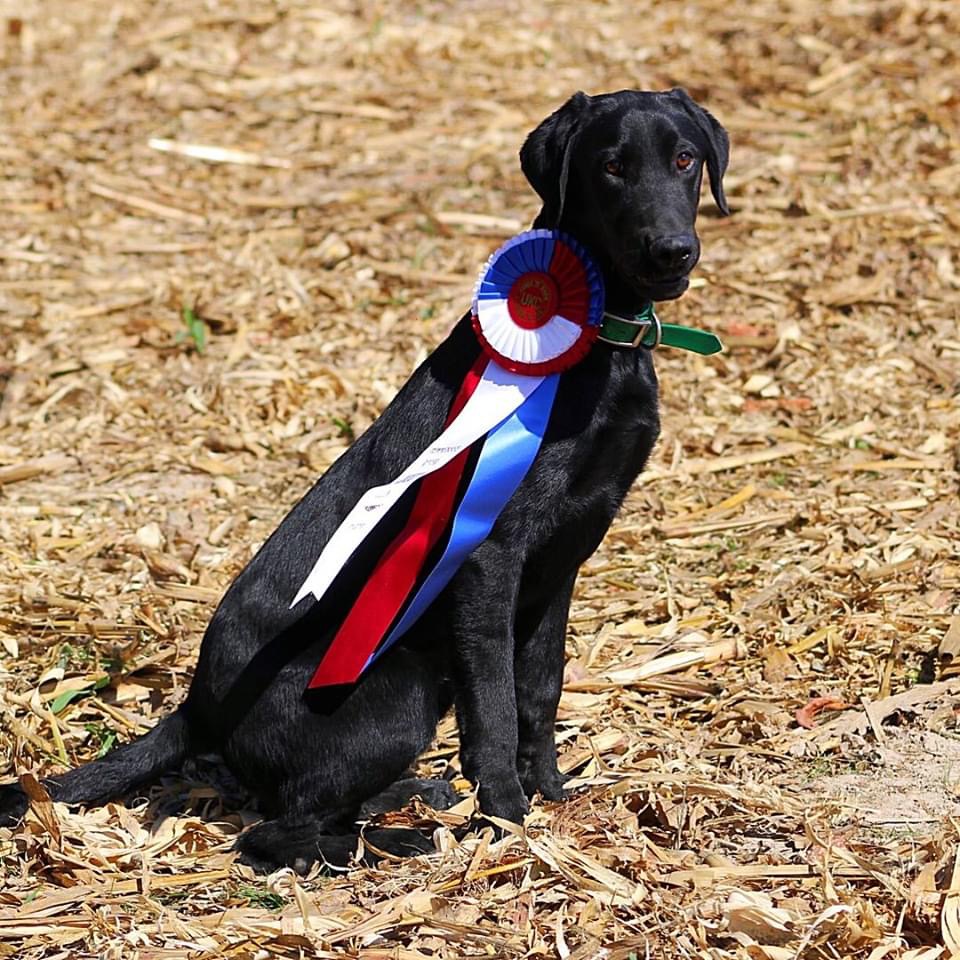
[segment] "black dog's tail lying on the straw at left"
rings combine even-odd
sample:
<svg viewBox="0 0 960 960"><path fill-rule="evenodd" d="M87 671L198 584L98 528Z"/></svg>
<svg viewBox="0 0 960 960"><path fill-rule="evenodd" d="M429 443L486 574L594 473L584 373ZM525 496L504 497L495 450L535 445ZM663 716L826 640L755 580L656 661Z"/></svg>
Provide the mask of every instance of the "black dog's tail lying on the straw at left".
<svg viewBox="0 0 960 960"><path fill-rule="evenodd" d="M191 752L189 724L181 707L142 737L43 783L54 800L99 806L177 767ZM26 806L19 787L0 787L0 823L19 819Z"/></svg>

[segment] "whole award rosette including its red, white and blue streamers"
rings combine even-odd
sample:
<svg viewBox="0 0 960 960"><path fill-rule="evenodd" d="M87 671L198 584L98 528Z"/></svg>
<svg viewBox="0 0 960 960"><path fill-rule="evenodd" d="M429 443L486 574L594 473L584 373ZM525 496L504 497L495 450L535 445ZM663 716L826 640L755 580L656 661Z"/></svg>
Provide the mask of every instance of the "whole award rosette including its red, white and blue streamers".
<svg viewBox="0 0 960 960"><path fill-rule="evenodd" d="M384 544L310 687L356 681L487 537L540 449L560 374L596 340L603 302L599 270L559 231L521 233L490 257L473 301L483 352L445 429L395 480L363 494L293 599L291 606L311 594L321 599L388 511L419 484L403 528Z"/></svg>

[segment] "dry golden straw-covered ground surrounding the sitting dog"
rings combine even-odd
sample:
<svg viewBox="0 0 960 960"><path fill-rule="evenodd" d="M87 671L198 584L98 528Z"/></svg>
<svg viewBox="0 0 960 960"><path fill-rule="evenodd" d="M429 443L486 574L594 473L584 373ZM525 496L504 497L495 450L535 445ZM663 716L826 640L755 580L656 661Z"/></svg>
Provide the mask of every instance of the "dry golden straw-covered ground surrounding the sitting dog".
<svg viewBox="0 0 960 960"><path fill-rule="evenodd" d="M208 759L0 831L0 957L960 952L953 0L2 0L0 775L184 696L230 579L460 315L576 89L733 142L525 833L256 877ZM456 765L452 720L423 760ZM466 791L464 791L466 795Z"/></svg>

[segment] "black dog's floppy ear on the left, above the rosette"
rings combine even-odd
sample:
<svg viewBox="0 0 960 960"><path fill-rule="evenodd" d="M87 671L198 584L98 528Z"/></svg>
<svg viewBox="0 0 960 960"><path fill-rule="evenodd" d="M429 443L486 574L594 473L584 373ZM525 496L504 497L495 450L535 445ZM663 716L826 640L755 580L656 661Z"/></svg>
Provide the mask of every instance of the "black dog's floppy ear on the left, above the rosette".
<svg viewBox="0 0 960 960"><path fill-rule="evenodd" d="M560 223L563 213L570 154L589 103L590 97L577 91L527 137L520 149L520 169L543 200L543 217L553 226Z"/></svg>

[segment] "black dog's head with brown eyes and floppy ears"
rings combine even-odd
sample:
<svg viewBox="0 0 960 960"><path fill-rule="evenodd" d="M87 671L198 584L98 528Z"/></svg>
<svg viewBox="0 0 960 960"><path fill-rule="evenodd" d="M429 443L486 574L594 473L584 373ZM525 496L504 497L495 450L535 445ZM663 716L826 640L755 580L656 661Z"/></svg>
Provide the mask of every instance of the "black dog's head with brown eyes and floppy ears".
<svg viewBox="0 0 960 960"><path fill-rule="evenodd" d="M537 227L584 243L608 281L633 297L671 300L700 258L694 224L706 167L729 213L729 139L684 90L574 94L526 139L520 165L543 200Z"/></svg>

